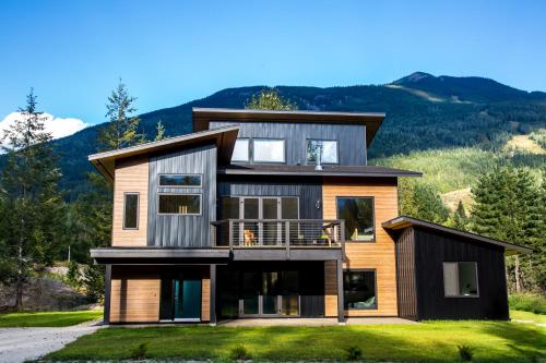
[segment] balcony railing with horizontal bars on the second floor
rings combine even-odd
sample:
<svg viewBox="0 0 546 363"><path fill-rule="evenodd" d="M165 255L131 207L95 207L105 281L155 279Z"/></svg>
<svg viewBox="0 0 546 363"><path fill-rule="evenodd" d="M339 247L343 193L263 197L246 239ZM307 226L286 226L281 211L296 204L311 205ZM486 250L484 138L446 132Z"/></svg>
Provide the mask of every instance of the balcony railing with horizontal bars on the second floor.
<svg viewBox="0 0 546 363"><path fill-rule="evenodd" d="M211 244L230 249L343 249L344 223L337 219L225 219L211 223Z"/></svg>

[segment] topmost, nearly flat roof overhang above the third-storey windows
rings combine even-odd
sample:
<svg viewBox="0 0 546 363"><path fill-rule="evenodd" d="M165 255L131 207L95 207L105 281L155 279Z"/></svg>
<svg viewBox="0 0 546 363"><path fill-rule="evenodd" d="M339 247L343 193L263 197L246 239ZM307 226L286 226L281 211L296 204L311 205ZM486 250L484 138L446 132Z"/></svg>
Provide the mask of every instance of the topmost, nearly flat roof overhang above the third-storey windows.
<svg viewBox="0 0 546 363"><path fill-rule="evenodd" d="M193 131L209 129L211 121L235 122L307 122L366 125L366 144L369 146L383 122L383 112L330 112L330 111L275 111L226 108L193 108Z"/></svg>

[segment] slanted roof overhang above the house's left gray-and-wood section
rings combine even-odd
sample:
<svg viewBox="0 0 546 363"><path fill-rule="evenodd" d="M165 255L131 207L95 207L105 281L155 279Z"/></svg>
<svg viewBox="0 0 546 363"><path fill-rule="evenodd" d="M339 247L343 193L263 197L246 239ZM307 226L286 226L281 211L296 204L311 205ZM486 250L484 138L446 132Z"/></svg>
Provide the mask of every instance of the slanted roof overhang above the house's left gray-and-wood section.
<svg viewBox="0 0 546 363"><path fill-rule="evenodd" d="M182 147L191 147L204 143L214 143L218 148L218 161L228 164L239 132L238 126L217 128L187 135L169 137L116 150L93 154L88 160L108 180L114 181L116 160L159 152L169 152Z"/></svg>

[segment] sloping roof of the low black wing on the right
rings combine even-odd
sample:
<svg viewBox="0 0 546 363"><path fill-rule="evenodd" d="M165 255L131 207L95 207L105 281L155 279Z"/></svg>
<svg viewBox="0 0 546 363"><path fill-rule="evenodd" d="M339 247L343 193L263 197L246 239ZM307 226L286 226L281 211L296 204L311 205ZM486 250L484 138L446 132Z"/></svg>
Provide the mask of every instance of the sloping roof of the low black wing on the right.
<svg viewBox="0 0 546 363"><path fill-rule="evenodd" d="M498 241L498 240L489 239L487 237L483 237L483 235L479 235L479 234L460 231L460 230L456 230L456 229L453 229L453 228L440 226L440 225L437 225L437 223L432 223L432 222L429 222L429 221L425 221L425 220L416 219L416 218L411 218L411 217L406 217L406 216L401 216L401 217L393 218L391 220L388 220L388 221L383 222L381 226L384 229L388 229L388 230L402 230L402 229L405 229L405 228L408 228L408 227L422 227L422 228L425 228L425 229L429 229L429 230L438 231L438 232L441 232L441 233L446 233L446 234L450 234L450 235L463 238L463 239L471 240L471 241L474 241L474 242L480 242L480 243L488 243L488 244L498 245L498 246L505 247L505 251L507 253L525 253L525 254L530 254L530 253L533 252L533 250L524 247L524 246L519 245L519 244L513 244L513 243L508 243L508 242L503 242L503 241Z"/></svg>

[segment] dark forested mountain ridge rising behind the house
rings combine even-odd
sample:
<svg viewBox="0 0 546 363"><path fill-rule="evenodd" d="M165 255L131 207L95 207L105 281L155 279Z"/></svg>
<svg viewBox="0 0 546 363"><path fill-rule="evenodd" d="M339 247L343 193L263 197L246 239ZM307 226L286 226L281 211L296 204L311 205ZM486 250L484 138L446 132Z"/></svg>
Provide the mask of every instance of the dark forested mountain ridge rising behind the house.
<svg viewBox="0 0 546 363"><path fill-rule="evenodd" d="M263 86L227 88L203 99L141 114L141 131L152 137L157 121L169 136L191 132L192 107L242 108ZM500 147L509 135L546 125L546 94L527 93L482 77L434 76L416 72L384 85L276 87L301 110L379 111L385 121L370 157L447 147ZM100 125L54 142L61 154L62 186L76 195L91 170Z"/></svg>

